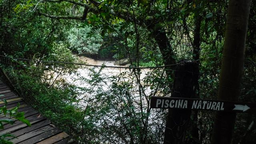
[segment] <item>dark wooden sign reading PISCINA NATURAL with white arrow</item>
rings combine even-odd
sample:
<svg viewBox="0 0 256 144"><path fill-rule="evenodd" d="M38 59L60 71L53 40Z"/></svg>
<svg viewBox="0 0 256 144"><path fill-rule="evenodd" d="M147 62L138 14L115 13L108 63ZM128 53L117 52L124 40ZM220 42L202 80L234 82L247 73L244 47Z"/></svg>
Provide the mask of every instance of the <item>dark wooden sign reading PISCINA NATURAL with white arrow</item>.
<svg viewBox="0 0 256 144"><path fill-rule="evenodd" d="M239 103L233 101L188 99L177 97L151 97L150 107L224 112L256 112L256 103Z"/></svg>

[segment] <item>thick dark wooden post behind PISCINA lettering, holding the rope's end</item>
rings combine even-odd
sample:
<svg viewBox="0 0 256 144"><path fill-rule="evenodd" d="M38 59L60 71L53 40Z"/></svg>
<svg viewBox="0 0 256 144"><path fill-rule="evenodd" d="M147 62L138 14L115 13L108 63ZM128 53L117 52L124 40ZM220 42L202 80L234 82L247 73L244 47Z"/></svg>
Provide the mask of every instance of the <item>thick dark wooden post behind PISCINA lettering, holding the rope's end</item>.
<svg viewBox="0 0 256 144"><path fill-rule="evenodd" d="M198 61L182 61L176 68L172 97L194 98ZM191 110L169 109L164 144L183 144Z"/></svg>

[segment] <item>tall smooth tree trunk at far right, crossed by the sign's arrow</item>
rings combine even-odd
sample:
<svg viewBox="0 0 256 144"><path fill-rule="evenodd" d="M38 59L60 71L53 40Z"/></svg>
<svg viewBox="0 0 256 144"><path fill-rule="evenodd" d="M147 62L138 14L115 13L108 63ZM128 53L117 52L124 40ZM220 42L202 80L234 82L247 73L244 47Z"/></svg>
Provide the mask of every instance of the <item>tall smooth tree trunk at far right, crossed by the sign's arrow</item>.
<svg viewBox="0 0 256 144"><path fill-rule="evenodd" d="M249 10L250 0L229 1L218 100L237 101L240 95ZM212 144L232 143L235 118L234 112L216 113Z"/></svg>

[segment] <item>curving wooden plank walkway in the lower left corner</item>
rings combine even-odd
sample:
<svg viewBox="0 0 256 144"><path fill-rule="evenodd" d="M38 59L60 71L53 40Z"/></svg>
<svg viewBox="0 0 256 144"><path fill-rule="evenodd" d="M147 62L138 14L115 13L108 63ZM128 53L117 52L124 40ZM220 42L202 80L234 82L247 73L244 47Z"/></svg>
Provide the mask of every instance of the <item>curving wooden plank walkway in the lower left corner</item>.
<svg viewBox="0 0 256 144"><path fill-rule="evenodd" d="M0 99L6 99L8 102L6 106L8 109L20 103L18 112L25 112L25 118L32 124L31 127L20 121L15 121L13 125L4 124L4 129L0 130L0 134L14 134L17 138L10 140L14 144L77 144L66 132L57 128L50 120L27 105L2 81L0 81L0 94L4 95ZM3 101L0 102L0 107L2 106L4 106ZM0 115L0 119L3 118L6 117Z"/></svg>

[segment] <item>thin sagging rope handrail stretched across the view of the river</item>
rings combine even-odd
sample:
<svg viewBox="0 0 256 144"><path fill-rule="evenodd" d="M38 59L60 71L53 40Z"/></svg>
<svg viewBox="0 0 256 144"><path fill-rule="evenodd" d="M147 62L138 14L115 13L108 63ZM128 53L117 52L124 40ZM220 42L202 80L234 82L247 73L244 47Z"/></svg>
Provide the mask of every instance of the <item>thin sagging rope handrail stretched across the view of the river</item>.
<svg viewBox="0 0 256 144"><path fill-rule="evenodd" d="M163 66L156 66L156 67L121 67L121 66L106 66L106 65L90 65L90 64L85 64L85 63L70 63L70 62L62 62L62 61L37 61L37 60L32 60L32 59L24 59L24 58L17 58L17 57L8 57L4 55L0 55L0 57L5 57L5 58L11 58L11 59L17 59L21 61L33 61L33 62L40 62L40 63L60 63L60 64L72 64L72 65L85 65L85 66L90 66L90 67L106 67L106 68L118 68L118 69L156 69L156 68L164 68L164 67L171 67L178 65L172 64L172 65L163 65Z"/></svg>

